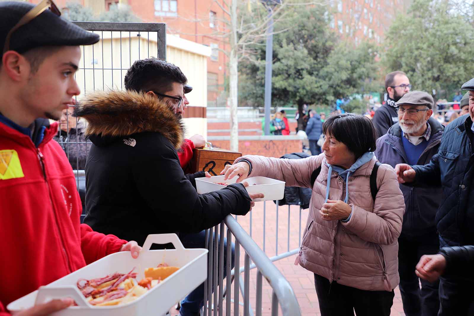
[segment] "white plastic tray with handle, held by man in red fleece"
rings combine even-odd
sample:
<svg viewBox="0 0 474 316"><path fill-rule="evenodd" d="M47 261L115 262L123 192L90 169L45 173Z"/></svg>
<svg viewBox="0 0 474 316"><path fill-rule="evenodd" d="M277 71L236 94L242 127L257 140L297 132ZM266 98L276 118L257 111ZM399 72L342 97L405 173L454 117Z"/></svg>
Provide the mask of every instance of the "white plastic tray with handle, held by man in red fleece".
<svg viewBox="0 0 474 316"><path fill-rule="evenodd" d="M172 243L175 249L149 250L152 244ZM137 259L130 252L112 253L68 274L40 289L11 302L7 308L16 312L54 298L73 298L78 306L56 312L54 316L148 316L164 315L174 304L197 288L207 277L207 249L184 249L176 234L148 235ZM180 267L135 301L118 306L92 306L77 289L79 279L94 279L107 274L128 273L135 267L137 280L145 277L145 269L165 262Z"/></svg>

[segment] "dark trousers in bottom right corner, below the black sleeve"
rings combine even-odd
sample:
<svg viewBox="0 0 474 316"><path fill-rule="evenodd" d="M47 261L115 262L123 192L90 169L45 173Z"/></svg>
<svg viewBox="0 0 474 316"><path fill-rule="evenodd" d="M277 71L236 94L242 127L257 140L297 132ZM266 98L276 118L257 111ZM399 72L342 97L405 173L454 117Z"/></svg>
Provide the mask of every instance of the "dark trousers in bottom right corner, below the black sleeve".
<svg viewBox="0 0 474 316"><path fill-rule="evenodd" d="M467 275L472 271L465 271ZM438 316L474 316L472 278L454 280L440 278Z"/></svg>

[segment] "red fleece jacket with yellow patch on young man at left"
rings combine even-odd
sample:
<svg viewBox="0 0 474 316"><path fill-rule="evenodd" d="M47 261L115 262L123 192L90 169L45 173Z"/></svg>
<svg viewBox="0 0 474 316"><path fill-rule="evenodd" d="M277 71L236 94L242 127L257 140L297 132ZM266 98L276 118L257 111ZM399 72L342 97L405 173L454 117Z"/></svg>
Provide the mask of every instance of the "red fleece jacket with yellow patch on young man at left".
<svg viewBox="0 0 474 316"><path fill-rule="evenodd" d="M73 170L52 141L57 129L47 127L36 148L0 123L0 316L10 302L127 243L80 224Z"/></svg>

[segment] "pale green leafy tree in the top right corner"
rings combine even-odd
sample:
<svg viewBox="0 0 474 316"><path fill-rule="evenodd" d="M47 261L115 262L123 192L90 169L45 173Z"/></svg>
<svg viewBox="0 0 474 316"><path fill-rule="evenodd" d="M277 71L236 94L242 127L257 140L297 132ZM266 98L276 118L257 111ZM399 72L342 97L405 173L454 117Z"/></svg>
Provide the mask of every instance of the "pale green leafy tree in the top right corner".
<svg viewBox="0 0 474 316"><path fill-rule="evenodd" d="M407 73L416 90L454 90L474 75L474 27L453 2L414 0L387 33L386 71Z"/></svg>

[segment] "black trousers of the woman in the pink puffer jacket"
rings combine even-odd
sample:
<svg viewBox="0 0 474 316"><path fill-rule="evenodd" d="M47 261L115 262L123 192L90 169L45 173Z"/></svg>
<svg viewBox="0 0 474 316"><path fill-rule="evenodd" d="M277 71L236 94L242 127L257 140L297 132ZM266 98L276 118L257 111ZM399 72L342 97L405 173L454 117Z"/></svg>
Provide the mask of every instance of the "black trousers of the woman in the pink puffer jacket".
<svg viewBox="0 0 474 316"><path fill-rule="evenodd" d="M389 316L395 292L366 291L314 274L321 316Z"/></svg>

